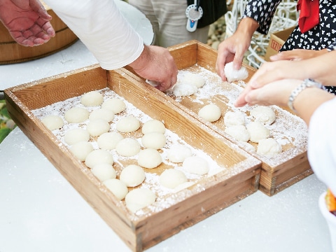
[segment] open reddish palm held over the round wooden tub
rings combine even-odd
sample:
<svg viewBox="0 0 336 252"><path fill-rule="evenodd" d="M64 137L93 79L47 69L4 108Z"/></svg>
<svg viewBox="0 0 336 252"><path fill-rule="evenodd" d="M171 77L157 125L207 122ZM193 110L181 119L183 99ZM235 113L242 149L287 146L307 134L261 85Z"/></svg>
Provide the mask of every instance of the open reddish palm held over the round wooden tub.
<svg viewBox="0 0 336 252"><path fill-rule="evenodd" d="M51 19L38 0L0 0L0 20L20 45L48 42L55 36Z"/></svg>

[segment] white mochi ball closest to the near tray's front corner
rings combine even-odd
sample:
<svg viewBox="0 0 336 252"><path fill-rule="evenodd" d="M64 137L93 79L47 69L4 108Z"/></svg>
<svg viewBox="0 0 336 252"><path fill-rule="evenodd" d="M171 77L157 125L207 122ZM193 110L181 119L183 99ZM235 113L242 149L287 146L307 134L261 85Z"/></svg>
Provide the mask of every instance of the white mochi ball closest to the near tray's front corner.
<svg viewBox="0 0 336 252"><path fill-rule="evenodd" d="M131 190L125 197L126 207L133 213L153 204L155 200L155 193L147 188L136 188Z"/></svg>

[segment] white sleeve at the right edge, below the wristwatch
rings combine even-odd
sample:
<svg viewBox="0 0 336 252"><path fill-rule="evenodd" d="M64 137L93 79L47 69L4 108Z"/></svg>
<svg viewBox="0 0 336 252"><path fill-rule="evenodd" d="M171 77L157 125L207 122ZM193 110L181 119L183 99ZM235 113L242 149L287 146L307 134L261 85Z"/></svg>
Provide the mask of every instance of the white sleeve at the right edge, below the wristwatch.
<svg viewBox="0 0 336 252"><path fill-rule="evenodd" d="M336 195L336 98L321 104L311 116L308 159L318 179Z"/></svg>

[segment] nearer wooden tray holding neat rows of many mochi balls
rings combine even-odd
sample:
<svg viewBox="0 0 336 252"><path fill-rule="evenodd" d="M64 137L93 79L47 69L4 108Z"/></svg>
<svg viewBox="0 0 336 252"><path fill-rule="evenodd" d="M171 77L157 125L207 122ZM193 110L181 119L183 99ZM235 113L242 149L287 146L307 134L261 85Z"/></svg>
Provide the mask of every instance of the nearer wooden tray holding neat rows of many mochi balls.
<svg viewBox="0 0 336 252"><path fill-rule="evenodd" d="M125 202L117 200L32 112L105 88L151 118L164 121L167 130L207 153L225 169L202 176L193 186L158 196L153 205L140 213L129 211ZM167 102L165 94L134 78L126 69L105 71L97 65L88 66L9 88L5 98L8 112L20 129L133 251L154 246L258 190L260 160ZM116 162L113 167L120 171ZM158 175L166 168L162 163L151 172Z"/></svg>

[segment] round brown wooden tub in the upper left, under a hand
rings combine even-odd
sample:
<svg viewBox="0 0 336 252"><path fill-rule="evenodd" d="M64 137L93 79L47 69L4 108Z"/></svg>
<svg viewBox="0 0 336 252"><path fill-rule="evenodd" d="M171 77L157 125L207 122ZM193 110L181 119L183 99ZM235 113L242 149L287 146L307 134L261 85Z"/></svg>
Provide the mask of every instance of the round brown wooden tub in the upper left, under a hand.
<svg viewBox="0 0 336 252"><path fill-rule="evenodd" d="M55 29L55 37L50 38L50 41L43 45L33 47L19 45L0 22L0 64L13 64L39 59L67 48L78 41L78 37L58 18L55 12L49 6L44 6L48 14L52 16L50 23Z"/></svg>

